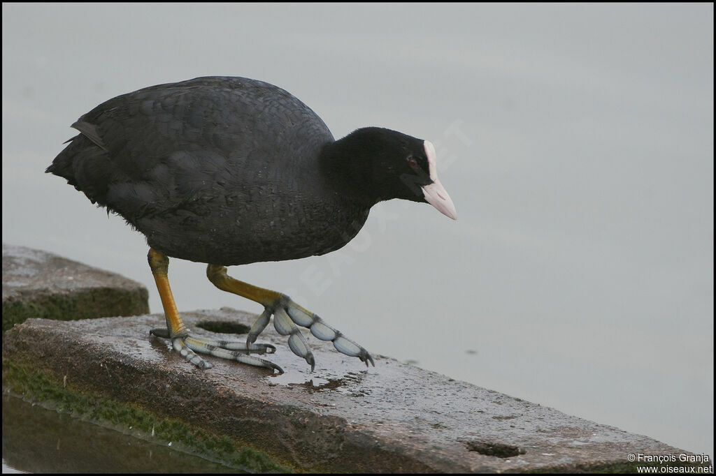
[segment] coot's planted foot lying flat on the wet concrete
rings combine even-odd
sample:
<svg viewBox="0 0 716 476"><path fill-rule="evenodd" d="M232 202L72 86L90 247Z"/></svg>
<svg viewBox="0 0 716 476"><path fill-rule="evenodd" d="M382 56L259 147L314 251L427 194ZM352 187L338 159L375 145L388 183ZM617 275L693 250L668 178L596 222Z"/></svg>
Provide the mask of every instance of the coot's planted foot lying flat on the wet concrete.
<svg viewBox="0 0 716 476"><path fill-rule="evenodd" d="M279 374L284 373L278 365L259 357L248 355L249 352L256 354L273 354L276 347L271 344L251 344L244 342L234 342L226 340L209 339L208 337L199 337L189 332L180 332L176 335L170 335L169 329L162 327L150 330L150 334L163 339L171 339L172 347L179 352L188 362L196 365L200 369L210 369L213 367L211 362L207 362L199 357L200 354L213 355L226 360L236 360L242 364L253 365L254 367L264 367L266 369L278 370Z"/></svg>

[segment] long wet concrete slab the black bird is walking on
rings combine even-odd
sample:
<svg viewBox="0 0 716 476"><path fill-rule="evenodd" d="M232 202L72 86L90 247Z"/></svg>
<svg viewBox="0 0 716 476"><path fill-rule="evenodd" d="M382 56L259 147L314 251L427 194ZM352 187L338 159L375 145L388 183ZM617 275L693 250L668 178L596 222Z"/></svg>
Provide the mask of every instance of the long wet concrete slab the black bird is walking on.
<svg viewBox="0 0 716 476"><path fill-rule="evenodd" d="M232 337L202 327L256 319L228 308L182 315L197 334L220 339ZM149 335L163 325L162 314L29 319L6 333L3 358L77 392L226 435L299 471L633 472L629 453L684 452L390 357L373 355L375 367L366 369L308 334L311 372L271 326L257 342L276 346L267 358L284 375L215 357L206 357L213 368L199 370Z"/></svg>

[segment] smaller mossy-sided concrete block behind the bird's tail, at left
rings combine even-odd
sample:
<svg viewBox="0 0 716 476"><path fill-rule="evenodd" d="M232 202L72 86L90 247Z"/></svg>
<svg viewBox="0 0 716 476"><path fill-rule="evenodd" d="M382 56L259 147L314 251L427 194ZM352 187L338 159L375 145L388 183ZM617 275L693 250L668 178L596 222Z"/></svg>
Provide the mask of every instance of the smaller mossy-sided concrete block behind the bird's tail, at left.
<svg viewBox="0 0 716 476"><path fill-rule="evenodd" d="M2 245L2 333L29 317L93 319L149 312L147 289L56 254Z"/></svg>

